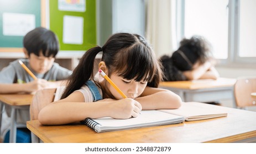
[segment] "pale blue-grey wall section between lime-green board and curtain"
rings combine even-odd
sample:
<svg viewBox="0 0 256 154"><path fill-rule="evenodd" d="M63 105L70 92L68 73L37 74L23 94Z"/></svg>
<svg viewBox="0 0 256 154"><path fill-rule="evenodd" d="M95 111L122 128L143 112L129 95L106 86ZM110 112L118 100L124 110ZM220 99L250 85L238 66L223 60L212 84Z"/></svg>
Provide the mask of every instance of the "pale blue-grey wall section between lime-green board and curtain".
<svg viewBox="0 0 256 154"><path fill-rule="evenodd" d="M116 32L132 32L144 36L145 4L138 0L98 0L98 45Z"/></svg>

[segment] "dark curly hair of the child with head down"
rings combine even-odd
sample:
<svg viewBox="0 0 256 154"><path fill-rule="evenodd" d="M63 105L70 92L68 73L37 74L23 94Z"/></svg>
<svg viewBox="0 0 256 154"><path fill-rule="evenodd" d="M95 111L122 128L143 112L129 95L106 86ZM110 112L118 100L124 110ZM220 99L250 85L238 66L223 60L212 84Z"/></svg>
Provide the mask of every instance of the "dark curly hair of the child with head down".
<svg viewBox="0 0 256 154"><path fill-rule="evenodd" d="M211 56L210 43L202 36L195 35L181 40L180 47L173 53L171 60L175 67L185 71L192 70L196 62L205 63Z"/></svg>

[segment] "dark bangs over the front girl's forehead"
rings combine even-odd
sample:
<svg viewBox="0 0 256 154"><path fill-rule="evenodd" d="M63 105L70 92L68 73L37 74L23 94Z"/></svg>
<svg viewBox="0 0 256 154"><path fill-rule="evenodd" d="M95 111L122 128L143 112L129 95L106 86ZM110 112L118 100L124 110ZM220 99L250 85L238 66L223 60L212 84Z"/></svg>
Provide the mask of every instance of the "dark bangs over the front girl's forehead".
<svg viewBox="0 0 256 154"><path fill-rule="evenodd" d="M135 43L122 50L117 57L118 59L112 65L116 70L115 73L124 79L150 82L157 73L157 63L153 60L155 57L153 51L141 43Z"/></svg>

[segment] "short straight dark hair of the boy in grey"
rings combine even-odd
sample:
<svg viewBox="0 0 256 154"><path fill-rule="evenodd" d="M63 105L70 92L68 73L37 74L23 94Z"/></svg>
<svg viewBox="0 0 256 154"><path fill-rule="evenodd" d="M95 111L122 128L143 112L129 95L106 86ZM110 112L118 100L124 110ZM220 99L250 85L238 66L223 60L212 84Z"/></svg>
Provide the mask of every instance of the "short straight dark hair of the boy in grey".
<svg viewBox="0 0 256 154"><path fill-rule="evenodd" d="M30 53L39 56L41 51L45 57L55 57L60 48L58 37L44 27L36 27L29 31L23 38L23 47L27 50L28 56Z"/></svg>

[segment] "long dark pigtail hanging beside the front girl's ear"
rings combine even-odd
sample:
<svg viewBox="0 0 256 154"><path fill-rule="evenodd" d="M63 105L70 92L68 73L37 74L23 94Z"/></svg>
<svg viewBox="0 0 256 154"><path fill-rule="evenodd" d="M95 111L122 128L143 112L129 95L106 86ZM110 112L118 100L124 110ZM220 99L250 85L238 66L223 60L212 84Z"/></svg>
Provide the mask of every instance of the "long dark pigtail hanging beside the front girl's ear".
<svg viewBox="0 0 256 154"><path fill-rule="evenodd" d="M67 87L61 96L61 99L66 98L75 90L79 90L86 81L93 78L93 66L96 55L102 51L99 46L93 47L88 50L83 57L80 59L79 64L74 69L72 75L70 76Z"/></svg>

